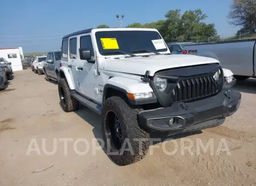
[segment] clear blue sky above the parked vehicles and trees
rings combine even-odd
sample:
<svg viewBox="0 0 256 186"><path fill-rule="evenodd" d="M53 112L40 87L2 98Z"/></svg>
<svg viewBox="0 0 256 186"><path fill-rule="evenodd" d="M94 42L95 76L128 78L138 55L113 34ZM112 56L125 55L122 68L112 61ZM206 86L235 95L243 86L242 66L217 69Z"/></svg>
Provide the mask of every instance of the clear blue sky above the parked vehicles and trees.
<svg viewBox="0 0 256 186"><path fill-rule="evenodd" d="M164 19L168 10L201 9L214 23L218 35L232 36L239 29L228 23L232 0L0 0L0 48L22 47L23 52L59 49L65 34L99 24L119 27L116 14L124 14L123 26Z"/></svg>

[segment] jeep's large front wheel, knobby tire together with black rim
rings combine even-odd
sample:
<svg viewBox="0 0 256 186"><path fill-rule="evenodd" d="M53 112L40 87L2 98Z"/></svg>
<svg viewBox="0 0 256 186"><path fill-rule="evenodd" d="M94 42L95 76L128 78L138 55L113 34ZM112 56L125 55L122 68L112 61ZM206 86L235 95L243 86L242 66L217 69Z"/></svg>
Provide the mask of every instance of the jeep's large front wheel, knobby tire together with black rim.
<svg viewBox="0 0 256 186"><path fill-rule="evenodd" d="M101 132L105 150L119 166L143 159L150 146L150 135L139 127L138 111L116 96L108 98L103 105Z"/></svg>

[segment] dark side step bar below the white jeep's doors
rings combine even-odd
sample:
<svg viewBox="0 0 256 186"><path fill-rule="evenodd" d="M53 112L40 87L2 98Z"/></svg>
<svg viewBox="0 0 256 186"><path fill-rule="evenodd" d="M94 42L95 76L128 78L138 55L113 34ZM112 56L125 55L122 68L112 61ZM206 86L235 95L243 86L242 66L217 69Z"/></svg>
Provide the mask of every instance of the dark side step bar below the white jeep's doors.
<svg viewBox="0 0 256 186"><path fill-rule="evenodd" d="M77 101L79 101L82 105L88 107L89 109L92 109L97 114L101 114L101 106L98 104L95 104L94 102L86 99L85 97L81 96L79 93L75 91L71 91L71 96L75 98Z"/></svg>

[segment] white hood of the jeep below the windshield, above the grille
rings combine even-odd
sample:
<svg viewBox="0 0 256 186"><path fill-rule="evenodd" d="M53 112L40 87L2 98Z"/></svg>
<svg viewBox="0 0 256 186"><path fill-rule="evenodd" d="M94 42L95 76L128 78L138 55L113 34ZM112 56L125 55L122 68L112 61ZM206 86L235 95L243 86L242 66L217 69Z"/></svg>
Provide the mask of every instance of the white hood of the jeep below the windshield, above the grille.
<svg viewBox="0 0 256 186"><path fill-rule="evenodd" d="M136 75L144 75L146 71L150 71L150 76L154 76L155 72L163 69L210 63L219 63L219 61L210 57L180 54L120 57L120 59L106 59L104 70Z"/></svg>

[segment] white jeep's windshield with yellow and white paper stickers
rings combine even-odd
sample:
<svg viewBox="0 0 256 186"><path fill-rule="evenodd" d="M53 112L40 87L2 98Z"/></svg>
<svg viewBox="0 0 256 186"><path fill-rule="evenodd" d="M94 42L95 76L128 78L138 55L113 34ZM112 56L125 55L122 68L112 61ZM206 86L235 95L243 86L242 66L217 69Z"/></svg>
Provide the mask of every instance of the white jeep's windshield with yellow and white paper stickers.
<svg viewBox="0 0 256 186"><path fill-rule="evenodd" d="M101 55L166 52L167 46L156 31L98 31L95 34ZM128 54L128 55L129 55Z"/></svg>

